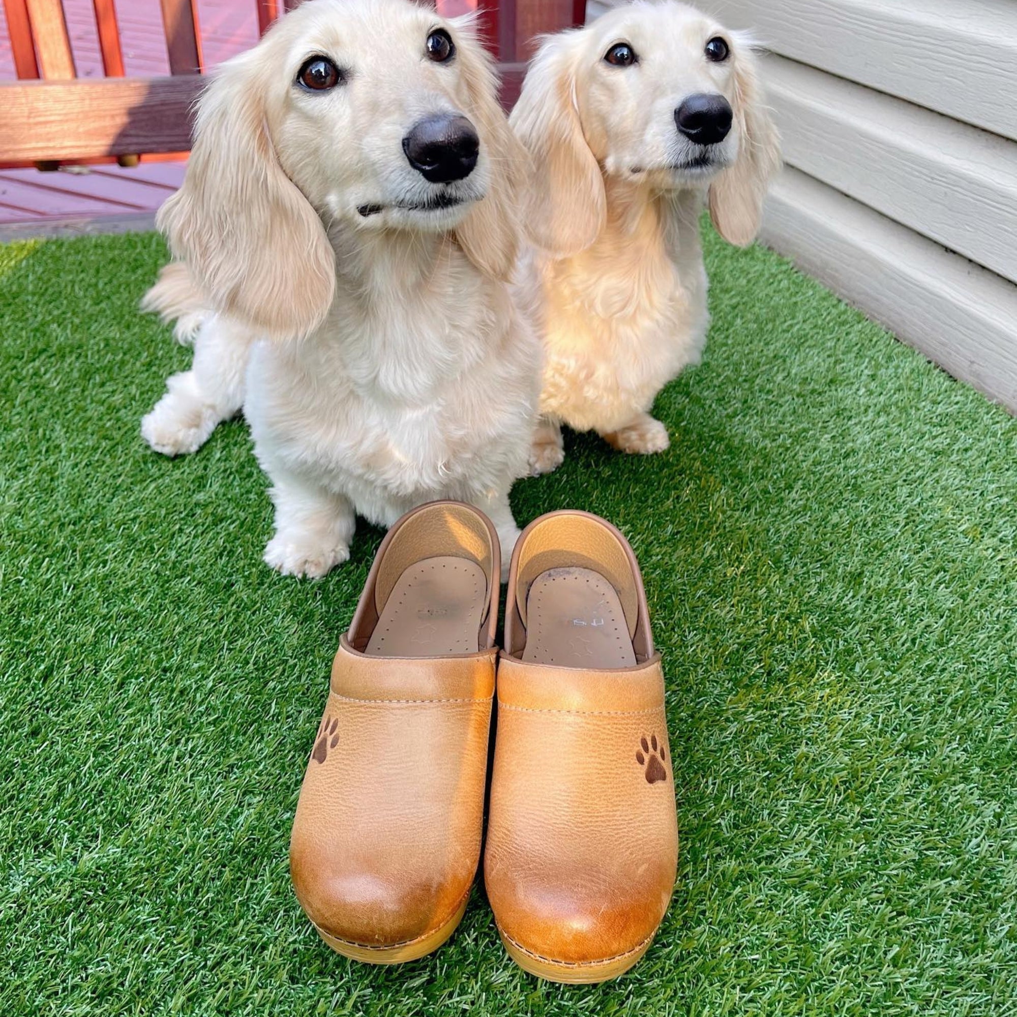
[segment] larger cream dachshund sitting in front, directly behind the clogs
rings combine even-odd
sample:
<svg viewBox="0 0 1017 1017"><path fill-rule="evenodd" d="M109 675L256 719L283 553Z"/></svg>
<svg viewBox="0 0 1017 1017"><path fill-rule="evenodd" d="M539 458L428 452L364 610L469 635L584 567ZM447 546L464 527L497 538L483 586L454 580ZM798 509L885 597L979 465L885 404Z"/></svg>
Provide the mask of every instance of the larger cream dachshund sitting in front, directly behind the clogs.
<svg viewBox="0 0 1017 1017"><path fill-rule="evenodd" d="M408 0L305 3L201 99L145 304L194 360L142 433L192 452L243 409L279 572L434 498L486 512L507 564L540 381L508 285L526 164L471 19Z"/></svg>

